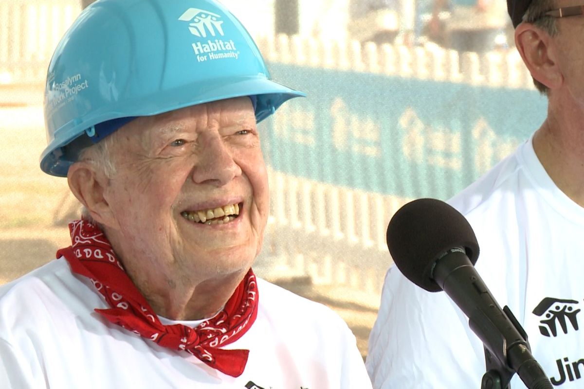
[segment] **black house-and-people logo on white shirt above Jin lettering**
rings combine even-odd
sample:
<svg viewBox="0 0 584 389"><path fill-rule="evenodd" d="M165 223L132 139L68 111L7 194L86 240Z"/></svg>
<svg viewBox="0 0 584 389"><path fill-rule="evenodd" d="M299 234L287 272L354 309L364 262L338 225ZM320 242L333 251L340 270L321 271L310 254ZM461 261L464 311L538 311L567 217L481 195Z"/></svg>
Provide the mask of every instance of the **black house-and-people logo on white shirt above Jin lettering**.
<svg viewBox="0 0 584 389"><path fill-rule="evenodd" d="M561 300L553 297L545 297L537 304L533 314L540 316L540 332L544 337L557 337L558 325L564 334L568 334L568 322L574 331L578 331L579 313L578 302L576 300Z"/></svg>

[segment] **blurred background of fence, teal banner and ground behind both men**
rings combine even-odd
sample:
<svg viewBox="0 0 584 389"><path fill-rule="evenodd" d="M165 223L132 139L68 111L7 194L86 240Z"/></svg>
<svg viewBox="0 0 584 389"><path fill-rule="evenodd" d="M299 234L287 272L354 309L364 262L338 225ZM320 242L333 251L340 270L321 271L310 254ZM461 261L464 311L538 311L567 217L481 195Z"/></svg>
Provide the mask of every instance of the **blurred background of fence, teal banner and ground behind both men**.
<svg viewBox="0 0 584 389"><path fill-rule="evenodd" d="M48 62L91 2L0 0L0 284L69 246L79 217L39 156ZM256 273L335 309L365 356L393 213L476 180L539 127L545 99L503 0L223 3L273 78L308 94L260 124L272 209Z"/></svg>

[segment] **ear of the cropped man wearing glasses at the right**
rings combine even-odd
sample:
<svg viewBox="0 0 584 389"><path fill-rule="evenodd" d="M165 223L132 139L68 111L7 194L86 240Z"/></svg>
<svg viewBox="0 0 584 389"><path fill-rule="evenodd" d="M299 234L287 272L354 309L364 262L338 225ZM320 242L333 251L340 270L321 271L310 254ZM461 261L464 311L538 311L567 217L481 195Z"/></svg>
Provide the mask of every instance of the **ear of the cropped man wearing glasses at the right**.
<svg viewBox="0 0 584 389"><path fill-rule="evenodd" d="M557 62L556 45L550 34L531 23L515 29L515 44L531 76L550 89L564 82Z"/></svg>

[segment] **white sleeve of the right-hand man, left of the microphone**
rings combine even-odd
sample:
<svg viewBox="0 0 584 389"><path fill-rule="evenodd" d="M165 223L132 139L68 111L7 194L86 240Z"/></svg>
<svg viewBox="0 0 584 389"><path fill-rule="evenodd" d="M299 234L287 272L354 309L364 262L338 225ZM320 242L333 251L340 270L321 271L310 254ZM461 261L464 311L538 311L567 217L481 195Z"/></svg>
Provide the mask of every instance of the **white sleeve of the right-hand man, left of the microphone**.
<svg viewBox="0 0 584 389"><path fill-rule="evenodd" d="M482 350L466 323L446 293L427 292L390 267L369 337L366 366L374 387L429 388L436 379L444 387L480 386L470 374Z"/></svg>

